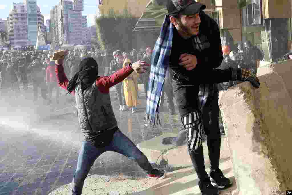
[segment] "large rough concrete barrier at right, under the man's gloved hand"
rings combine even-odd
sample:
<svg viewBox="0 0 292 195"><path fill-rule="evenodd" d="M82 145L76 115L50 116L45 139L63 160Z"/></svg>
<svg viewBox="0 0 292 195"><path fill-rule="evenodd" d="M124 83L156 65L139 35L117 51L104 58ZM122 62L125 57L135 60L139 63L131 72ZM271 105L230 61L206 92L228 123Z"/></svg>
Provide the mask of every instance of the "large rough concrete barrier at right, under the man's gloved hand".
<svg viewBox="0 0 292 195"><path fill-rule="evenodd" d="M234 176L242 195L281 194L292 189L291 98L277 72L259 79L259 89L243 82L219 93Z"/></svg>

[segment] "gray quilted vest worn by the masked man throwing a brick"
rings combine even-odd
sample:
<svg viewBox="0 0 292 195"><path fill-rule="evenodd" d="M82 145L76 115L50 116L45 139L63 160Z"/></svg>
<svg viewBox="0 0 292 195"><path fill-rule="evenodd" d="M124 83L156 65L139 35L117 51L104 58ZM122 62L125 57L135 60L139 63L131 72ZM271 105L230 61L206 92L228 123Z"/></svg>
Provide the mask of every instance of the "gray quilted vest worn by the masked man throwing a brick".
<svg viewBox="0 0 292 195"><path fill-rule="evenodd" d="M78 120L82 133L90 135L117 127L109 94L103 94L93 85L82 93L81 84L75 88L75 100L78 109ZM87 117L88 116L88 120Z"/></svg>

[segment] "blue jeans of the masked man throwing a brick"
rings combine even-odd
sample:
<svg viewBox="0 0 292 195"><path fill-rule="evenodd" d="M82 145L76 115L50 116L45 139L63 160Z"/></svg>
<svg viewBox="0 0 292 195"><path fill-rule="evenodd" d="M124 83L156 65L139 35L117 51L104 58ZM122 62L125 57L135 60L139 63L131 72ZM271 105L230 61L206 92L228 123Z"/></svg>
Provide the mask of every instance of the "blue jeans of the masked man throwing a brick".
<svg viewBox="0 0 292 195"><path fill-rule="evenodd" d="M147 157L136 147L136 145L122 133L119 129L114 133L113 139L109 145L97 148L90 141L84 141L79 152L77 169L72 181L72 194L79 195L82 192L84 180L87 177L94 161L106 151L113 151L135 160L138 165L150 173L152 166Z"/></svg>

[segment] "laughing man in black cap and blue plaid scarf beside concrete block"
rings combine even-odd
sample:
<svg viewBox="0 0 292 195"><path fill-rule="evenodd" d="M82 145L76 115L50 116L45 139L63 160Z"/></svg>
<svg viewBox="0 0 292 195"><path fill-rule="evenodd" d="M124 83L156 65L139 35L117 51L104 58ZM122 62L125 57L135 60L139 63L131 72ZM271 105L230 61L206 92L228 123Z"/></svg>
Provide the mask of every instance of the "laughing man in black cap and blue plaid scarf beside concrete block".
<svg viewBox="0 0 292 195"><path fill-rule="evenodd" d="M144 121L149 125L158 124L159 102L169 69L199 188L203 195L218 194L218 189L230 187L232 182L219 168L221 136L216 83L248 80L257 88L260 83L249 70L215 69L223 60L220 31L215 20L202 11L205 5L194 0L168 0L166 8L168 14L151 57ZM205 170L202 146L205 139L215 187Z"/></svg>

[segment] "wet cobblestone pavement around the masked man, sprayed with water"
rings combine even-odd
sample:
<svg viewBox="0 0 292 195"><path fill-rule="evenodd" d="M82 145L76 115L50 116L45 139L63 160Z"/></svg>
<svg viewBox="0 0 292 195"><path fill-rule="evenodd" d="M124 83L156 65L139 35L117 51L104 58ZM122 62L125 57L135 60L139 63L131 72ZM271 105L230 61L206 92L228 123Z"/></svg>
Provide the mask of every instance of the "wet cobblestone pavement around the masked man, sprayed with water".
<svg viewBox="0 0 292 195"><path fill-rule="evenodd" d="M111 96L115 97L112 92ZM68 106L65 101L61 101L60 105ZM161 112L161 127L145 127L143 118L146 98L142 92L139 102L137 113L132 114L131 111L119 111L117 100L112 100L119 128L135 144L159 136L163 132L179 131L178 111L175 115ZM71 102L71 105L73 104L74 102ZM164 108L167 108L167 103ZM27 113L30 116L33 114L36 113ZM0 120L5 122L7 118ZM11 117L9 120L15 122L11 122L12 125L0 123L0 195L46 195L61 185L71 183L79 148L84 140L79 131L76 114L47 118L29 129L18 124L22 120L19 117ZM135 161L115 152L103 153L95 161L90 174L145 177L145 173Z"/></svg>

